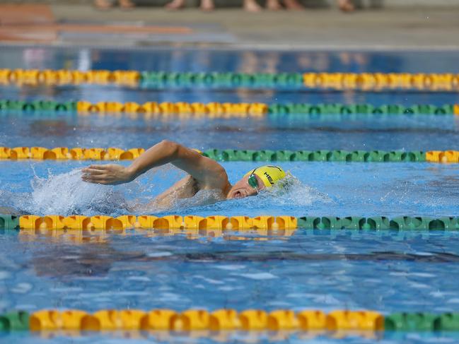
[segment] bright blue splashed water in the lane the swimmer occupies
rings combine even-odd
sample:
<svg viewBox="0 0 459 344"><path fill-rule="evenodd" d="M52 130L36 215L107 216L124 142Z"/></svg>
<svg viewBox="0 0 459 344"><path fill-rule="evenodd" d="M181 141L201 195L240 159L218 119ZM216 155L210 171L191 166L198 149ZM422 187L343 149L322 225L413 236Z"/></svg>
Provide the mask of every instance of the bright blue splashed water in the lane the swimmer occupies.
<svg viewBox="0 0 459 344"><path fill-rule="evenodd" d="M126 164L127 162L124 162ZM231 182L237 182L257 162L225 162ZM123 215L136 204L147 204L183 174L174 167L153 170L120 186L81 181L88 162L0 162L0 206L37 215ZM179 201L169 210L151 207L159 215L333 215L333 216L453 216L458 214L458 165L427 162L284 162L296 177L286 190L257 197L205 204L204 195ZM358 178L356 177L358 176ZM137 215L144 213L139 210Z"/></svg>

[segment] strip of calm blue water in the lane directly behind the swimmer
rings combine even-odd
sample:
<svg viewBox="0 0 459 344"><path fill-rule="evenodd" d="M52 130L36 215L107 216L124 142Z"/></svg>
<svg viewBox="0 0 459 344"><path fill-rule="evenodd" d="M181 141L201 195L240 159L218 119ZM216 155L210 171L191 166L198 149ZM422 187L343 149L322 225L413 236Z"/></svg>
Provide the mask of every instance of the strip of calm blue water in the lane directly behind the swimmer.
<svg viewBox="0 0 459 344"><path fill-rule="evenodd" d="M129 119L49 114L0 115L0 146L148 148L163 139L200 148L289 150L450 150L459 119L436 116L323 115L264 119Z"/></svg>

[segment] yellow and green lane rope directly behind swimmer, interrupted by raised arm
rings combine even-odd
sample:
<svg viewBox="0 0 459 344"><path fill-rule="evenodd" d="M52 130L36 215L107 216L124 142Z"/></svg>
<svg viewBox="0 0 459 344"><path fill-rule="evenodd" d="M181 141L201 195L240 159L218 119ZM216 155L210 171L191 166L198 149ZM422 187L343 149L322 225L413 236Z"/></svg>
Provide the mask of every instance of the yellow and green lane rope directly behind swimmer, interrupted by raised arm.
<svg viewBox="0 0 459 344"><path fill-rule="evenodd" d="M144 148L0 147L0 160L133 160ZM217 161L252 162L459 162L458 150L233 150L209 149L203 155Z"/></svg>

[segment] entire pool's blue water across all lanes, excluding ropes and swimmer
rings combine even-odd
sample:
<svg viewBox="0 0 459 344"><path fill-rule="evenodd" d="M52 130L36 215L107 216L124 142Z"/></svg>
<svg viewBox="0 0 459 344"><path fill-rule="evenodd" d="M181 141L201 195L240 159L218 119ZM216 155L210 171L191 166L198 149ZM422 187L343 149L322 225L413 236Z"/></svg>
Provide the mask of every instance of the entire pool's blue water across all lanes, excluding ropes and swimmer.
<svg viewBox="0 0 459 344"><path fill-rule="evenodd" d="M458 72L455 53L239 52L159 49L8 48L5 68L150 69L164 71L397 71ZM256 61L257 63L254 63ZM287 63L289 62L289 63ZM401 105L458 102L457 93L312 92L304 90L206 90L82 85L59 88L1 87L21 100L116 100L120 102L368 102ZM262 117L258 119L152 119L124 115L2 112L0 146L148 148L162 139L206 150L450 150L458 149L455 116ZM0 207L36 215L119 216L120 204L146 203L178 180L172 167L137 182L100 186L81 182L88 161L1 160ZM126 164L128 162L122 162ZM231 182L257 162L223 162ZM291 215L428 216L458 214L458 164L429 162L283 162L294 188L253 198L204 204L199 197L157 216ZM134 215L143 215L135 213ZM2 231L2 230L0 230ZM279 232L187 231L59 232L3 230L3 311L21 309L371 309L395 312L458 312L453 275L456 231L311 230ZM7 295L7 296L6 296ZM21 343L62 343L73 338L115 343L126 333L1 333ZM72 337L74 336L74 337ZM130 333L132 340L214 343L201 333ZM324 333L227 333L229 340L364 343L455 343L455 332L356 333L344 339ZM284 336L284 337L282 337ZM334 338L335 336L335 338ZM368 338L365 338L367 336Z"/></svg>

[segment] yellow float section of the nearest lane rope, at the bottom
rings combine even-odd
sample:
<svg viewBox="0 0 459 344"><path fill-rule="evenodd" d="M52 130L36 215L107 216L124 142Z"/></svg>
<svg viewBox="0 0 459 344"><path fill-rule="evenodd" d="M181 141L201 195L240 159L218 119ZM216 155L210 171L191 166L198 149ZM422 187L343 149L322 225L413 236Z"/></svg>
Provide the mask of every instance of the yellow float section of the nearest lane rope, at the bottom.
<svg viewBox="0 0 459 344"><path fill-rule="evenodd" d="M325 314L318 310L294 312L277 309L188 309L175 312L171 309L103 309L93 314L80 310L42 310L30 314L31 331L82 330L163 330L163 331L279 331L279 330L366 330L384 329L384 317L372 311L337 310Z"/></svg>

